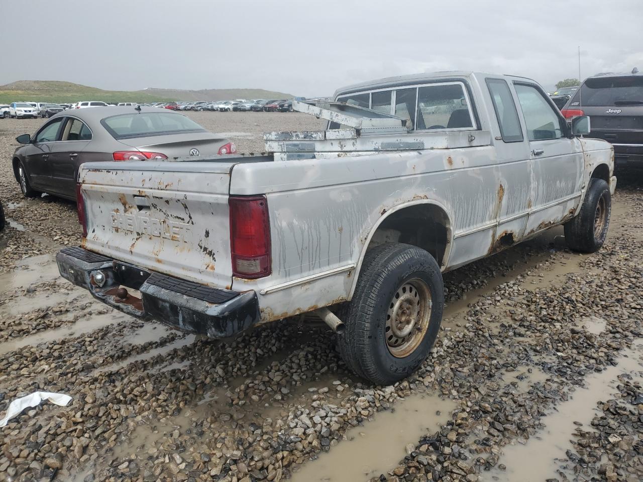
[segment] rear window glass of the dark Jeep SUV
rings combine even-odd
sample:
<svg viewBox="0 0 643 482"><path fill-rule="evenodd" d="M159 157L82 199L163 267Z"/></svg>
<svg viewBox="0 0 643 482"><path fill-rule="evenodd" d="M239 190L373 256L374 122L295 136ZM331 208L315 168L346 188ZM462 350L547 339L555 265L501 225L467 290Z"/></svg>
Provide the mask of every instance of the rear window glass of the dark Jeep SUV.
<svg viewBox="0 0 643 482"><path fill-rule="evenodd" d="M576 92L570 105L643 105L643 77L588 78Z"/></svg>

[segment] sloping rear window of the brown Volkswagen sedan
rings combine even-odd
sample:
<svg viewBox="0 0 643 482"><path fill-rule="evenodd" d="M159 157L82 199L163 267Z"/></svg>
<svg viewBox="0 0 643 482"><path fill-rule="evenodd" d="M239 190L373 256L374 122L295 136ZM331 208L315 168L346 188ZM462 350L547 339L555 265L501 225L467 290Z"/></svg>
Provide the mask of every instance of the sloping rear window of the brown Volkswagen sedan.
<svg viewBox="0 0 643 482"><path fill-rule="evenodd" d="M193 120L172 112L121 114L120 116L107 117L100 123L114 139L163 136L179 132L206 132Z"/></svg>

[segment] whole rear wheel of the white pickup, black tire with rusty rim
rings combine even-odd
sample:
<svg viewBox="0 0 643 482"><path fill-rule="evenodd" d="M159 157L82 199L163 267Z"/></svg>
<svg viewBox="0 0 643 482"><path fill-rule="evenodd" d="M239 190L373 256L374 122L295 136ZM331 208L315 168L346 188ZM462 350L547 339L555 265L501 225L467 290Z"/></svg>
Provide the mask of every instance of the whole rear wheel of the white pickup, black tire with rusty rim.
<svg viewBox="0 0 643 482"><path fill-rule="evenodd" d="M409 308L417 310L415 316L407 316ZM353 298L340 314L345 325L338 334L341 356L350 370L374 384L404 379L428 356L443 310L442 273L431 254L410 244L378 246L366 254ZM392 326L398 314L415 322ZM394 336L400 329L410 330L406 343L402 332Z"/></svg>

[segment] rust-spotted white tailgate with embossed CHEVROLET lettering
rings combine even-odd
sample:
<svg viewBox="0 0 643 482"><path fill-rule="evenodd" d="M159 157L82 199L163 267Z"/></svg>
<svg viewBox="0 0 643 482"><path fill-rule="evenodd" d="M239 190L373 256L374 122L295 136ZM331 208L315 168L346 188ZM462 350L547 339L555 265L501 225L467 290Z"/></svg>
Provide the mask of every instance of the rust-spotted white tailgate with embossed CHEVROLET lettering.
<svg viewBox="0 0 643 482"><path fill-rule="evenodd" d="M235 163L84 164L84 247L213 287L230 287L228 192Z"/></svg>

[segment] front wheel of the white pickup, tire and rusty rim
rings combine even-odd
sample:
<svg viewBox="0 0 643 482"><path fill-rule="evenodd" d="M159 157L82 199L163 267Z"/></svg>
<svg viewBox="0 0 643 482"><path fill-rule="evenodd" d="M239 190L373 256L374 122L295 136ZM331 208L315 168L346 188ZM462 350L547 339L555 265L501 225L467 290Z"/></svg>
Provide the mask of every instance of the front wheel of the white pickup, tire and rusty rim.
<svg viewBox="0 0 643 482"><path fill-rule="evenodd" d="M601 249L610 228L610 186L602 179L590 179L581 212L565 224L565 242L572 251L595 253Z"/></svg>

